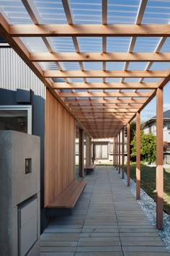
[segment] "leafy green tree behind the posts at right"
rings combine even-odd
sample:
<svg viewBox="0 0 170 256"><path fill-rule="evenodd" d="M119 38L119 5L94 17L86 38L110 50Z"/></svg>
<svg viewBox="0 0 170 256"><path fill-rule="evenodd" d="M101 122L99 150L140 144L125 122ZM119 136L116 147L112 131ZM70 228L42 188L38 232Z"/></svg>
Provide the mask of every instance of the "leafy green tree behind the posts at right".
<svg viewBox="0 0 170 256"><path fill-rule="evenodd" d="M132 156L136 156L136 135L131 142ZM148 163L156 161L156 136L152 133L146 135L140 130L140 156Z"/></svg>

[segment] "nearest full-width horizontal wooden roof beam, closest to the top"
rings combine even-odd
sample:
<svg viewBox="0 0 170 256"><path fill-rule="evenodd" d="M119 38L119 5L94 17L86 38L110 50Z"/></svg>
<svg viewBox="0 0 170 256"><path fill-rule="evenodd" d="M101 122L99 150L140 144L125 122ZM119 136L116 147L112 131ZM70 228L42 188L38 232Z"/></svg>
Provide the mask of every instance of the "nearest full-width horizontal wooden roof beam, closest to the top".
<svg viewBox="0 0 170 256"><path fill-rule="evenodd" d="M40 25L9 25L7 31L13 37L99 37L99 36L170 36L170 25L143 24L143 25L99 25L99 24L40 24Z"/></svg>

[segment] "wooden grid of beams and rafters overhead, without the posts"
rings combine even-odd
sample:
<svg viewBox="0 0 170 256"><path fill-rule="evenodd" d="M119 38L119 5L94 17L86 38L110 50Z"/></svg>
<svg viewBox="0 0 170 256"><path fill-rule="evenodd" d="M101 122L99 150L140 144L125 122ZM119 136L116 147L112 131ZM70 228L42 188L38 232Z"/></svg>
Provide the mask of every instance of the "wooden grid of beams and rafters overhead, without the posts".
<svg viewBox="0 0 170 256"><path fill-rule="evenodd" d="M53 1L50 2L53 4ZM107 0L101 0L101 24L76 23L71 3L68 0L58 2L63 6L67 24L45 23L32 0L22 0L32 24L13 24L3 6L0 6L0 33L90 137L115 137L151 101L156 89L169 82L170 69L153 70L151 67L154 63L166 64L170 61L170 53L161 52L170 36L170 25L142 23L148 0L139 2L133 24L108 24ZM56 51L52 37L71 38L75 51ZM81 51L79 38L87 37L102 38L102 52ZM108 52L108 37L130 37L128 51ZM159 41L153 52L136 52L134 49L138 37L158 37ZM27 38L41 38L48 51L30 51L24 43ZM124 62L122 70L108 70L107 64L112 62ZM131 70L130 64L133 62L146 62L146 67L143 70ZM41 63L53 63L56 68L43 69ZM77 63L79 69L74 70L74 66L66 69L68 66L65 63ZM94 67L97 63L102 64L101 70L85 69L85 64ZM156 78L158 82L146 82L146 78ZM120 82L108 82L109 79L120 79ZM128 82L128 79L138 79L138 82Z"/></svg>

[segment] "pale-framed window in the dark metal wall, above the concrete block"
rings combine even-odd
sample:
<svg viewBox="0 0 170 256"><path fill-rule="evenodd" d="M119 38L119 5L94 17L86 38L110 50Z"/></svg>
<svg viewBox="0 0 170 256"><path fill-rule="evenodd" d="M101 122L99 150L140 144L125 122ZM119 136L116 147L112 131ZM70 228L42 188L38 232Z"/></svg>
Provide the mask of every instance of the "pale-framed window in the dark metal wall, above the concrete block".
<svg viewBox="0 0 170 256"><path fill-rule="evenodd" d="M0 129L32 134L32 106L0 106Z"/></svg>

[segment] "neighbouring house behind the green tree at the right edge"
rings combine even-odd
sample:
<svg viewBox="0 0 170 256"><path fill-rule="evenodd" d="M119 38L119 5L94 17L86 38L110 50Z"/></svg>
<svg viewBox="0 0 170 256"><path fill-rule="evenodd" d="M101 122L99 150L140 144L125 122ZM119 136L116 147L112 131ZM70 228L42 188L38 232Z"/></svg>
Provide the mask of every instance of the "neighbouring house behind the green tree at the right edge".
<svg viewBox="0 0 170 256"><path fill-rule="evenodd" d="M143 131L146 134L153 133L153 135L156 135L156 116L143 124ZM164 111L164 141L169 142L170 147L170 110Z"/></svg>

